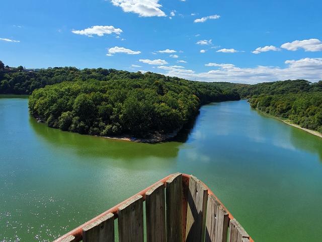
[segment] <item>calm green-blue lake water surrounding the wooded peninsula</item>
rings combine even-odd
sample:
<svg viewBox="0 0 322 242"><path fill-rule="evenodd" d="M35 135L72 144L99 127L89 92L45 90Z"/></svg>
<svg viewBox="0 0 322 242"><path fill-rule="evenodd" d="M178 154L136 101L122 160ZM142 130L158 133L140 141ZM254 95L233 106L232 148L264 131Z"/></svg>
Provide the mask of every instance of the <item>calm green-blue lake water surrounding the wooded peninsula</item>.
<svg viewBox="0 0 322 242"><path fill-rule="evenodd" d="M0 241L50 241L176 171L193 173L256 241L320 241L322 139L252 110L203 106L179 142L47 128L0 98Z"/></svg>

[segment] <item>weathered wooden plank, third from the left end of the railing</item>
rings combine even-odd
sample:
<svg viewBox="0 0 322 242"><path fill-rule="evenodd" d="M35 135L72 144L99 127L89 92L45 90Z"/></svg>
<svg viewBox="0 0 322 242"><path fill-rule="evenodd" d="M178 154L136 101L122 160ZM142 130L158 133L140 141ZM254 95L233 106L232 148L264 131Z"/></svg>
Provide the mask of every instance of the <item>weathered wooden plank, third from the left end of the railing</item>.
<svg viewBox="0 0 322 242"><path fill-rule="evenodd" d="M143 242L143 198L137 195L118 209L119 242Z"/></svg>

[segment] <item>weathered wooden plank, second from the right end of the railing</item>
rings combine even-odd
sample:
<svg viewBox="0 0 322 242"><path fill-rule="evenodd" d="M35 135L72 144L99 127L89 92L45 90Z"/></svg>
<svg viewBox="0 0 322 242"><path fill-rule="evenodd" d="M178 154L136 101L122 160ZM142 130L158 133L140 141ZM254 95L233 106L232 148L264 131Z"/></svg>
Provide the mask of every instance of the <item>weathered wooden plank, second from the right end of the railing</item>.
<svg viewBox="0 0 322 242"><path fill-rule="evenodd" d="M206 242L226 242L229 217L213 195L208 196Z"/></svg>

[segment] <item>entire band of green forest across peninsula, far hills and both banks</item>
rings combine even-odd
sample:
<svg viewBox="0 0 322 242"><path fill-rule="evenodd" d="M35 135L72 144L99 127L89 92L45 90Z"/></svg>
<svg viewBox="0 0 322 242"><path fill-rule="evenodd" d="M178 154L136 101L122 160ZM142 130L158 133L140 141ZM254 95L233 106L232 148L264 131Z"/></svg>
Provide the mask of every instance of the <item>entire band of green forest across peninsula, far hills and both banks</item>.
<svg viewBox="0 0 322 242"><path fill-rule="evenodd" d="M3 66L0 93L31 94L29 111L38 120L49 127L97 136L162 141L193 120L201 105L240 98L260 111L322 132L322 81L247 85L103 68Z"/></svg>

